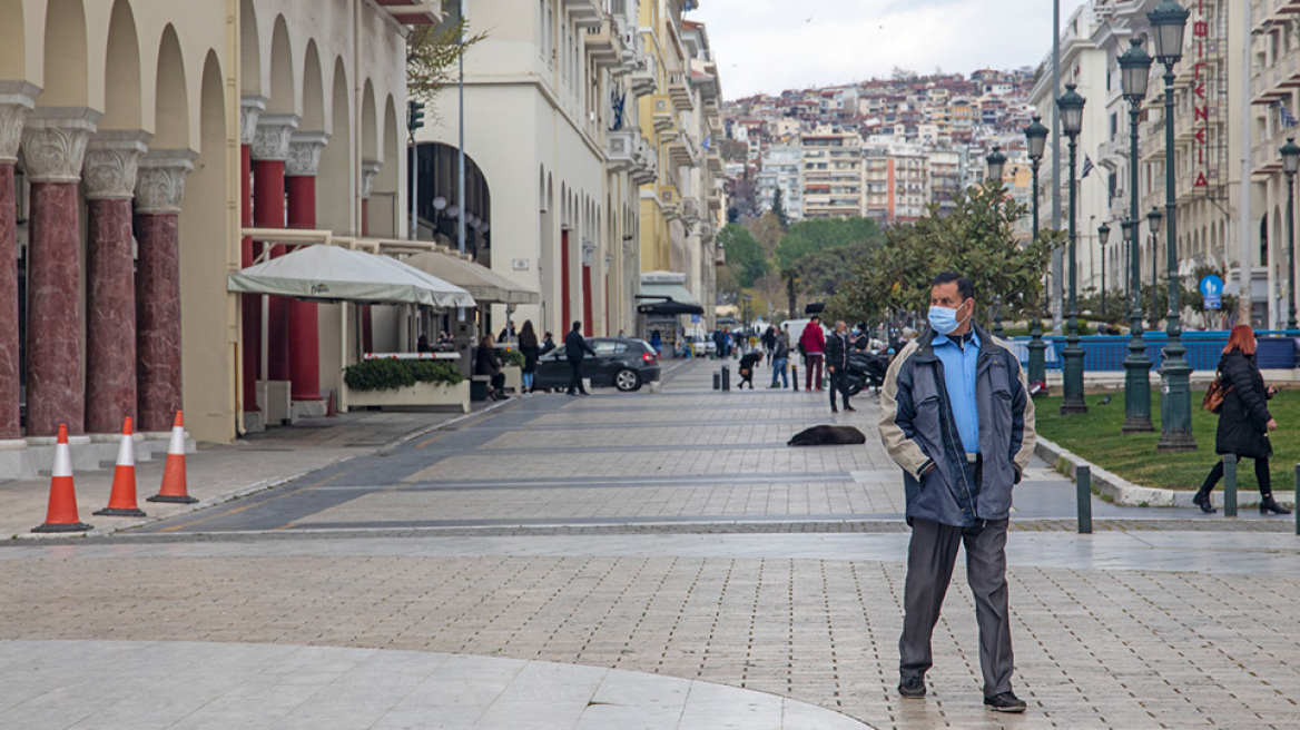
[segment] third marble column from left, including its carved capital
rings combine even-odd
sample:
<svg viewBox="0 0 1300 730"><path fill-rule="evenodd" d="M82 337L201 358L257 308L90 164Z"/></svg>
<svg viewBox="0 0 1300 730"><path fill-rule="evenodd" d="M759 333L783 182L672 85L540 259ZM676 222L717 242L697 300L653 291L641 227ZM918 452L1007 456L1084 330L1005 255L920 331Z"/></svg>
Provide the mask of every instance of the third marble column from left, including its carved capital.
<svg viewBox="0 0 1300 730"><path fill-rule="evenodd" d="M101 131L86 149L86 430L135 418L135 252L131 200L148 134Z"/></svg>

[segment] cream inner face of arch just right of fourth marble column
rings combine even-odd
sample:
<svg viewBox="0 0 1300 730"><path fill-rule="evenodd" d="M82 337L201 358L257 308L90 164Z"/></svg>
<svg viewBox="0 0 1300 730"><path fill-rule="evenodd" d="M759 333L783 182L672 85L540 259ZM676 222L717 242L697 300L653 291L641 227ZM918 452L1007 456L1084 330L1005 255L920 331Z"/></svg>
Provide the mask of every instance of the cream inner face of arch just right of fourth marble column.
<svg viewBox="0 0 1300 730"><path fill-rule="evenodd" d="M179 216L181 322L211 322L213 312L225 312L230 295L222 277L211 271L228 265L228 242L237 220L226 208L230 175L226 148L225 74L214 51L203 61L199 94L199 156L185 182ZM161 99L161 96L160 96ZM198 329L198 327L196 327ZM194 331L194 330L191 330ZM230 403L235 397L235 352L225 338L185 338L181 351L181 392L190 426L234 438ZM213 368L225 362L225 368ZM208 423L203 423L208 420Z"/></svg>

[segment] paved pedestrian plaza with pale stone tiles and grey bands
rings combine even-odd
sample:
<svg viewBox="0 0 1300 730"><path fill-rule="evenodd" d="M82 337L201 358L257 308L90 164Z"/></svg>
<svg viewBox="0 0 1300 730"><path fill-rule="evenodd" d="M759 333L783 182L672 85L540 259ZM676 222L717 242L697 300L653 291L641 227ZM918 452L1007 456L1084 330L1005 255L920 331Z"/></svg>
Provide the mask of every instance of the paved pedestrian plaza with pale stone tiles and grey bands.
<svg viewBox="0 0 1300 730"><path fill-rule="evenodd" d="M980 701L962 565L930 695L901 700L907 531L875 396L835 418L826 394L715 392L712 369L282 436L226 464L273 488L8 540L0 727L1300 727L1290 520L1095 500L1078 535L1041 462L1008 547L1028 712ZM785 446L831 422L867 444ZM222 462L194 464L191 485Z"/></svg>

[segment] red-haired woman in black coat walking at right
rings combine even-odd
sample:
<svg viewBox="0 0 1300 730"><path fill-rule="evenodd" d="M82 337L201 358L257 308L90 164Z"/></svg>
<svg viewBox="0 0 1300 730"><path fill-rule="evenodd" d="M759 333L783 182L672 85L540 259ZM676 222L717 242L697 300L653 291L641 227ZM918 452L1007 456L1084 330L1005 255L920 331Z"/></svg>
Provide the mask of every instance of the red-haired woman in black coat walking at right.
<svg viewBox="0 0 1300 730"><path fill-rule="evenodd" d="M1260 514L1273 512L1290 514L1291 510L1273 499L1273 485L1269 479L1269 457L1273 444L1269 431L1277 430L1278 422L1269 413L1268 401L1277 388L1264 386L1264 375L1254 365L1254 331L1248 325L1232 327L1223 357L1218 365L1219 382L1227 392L1223 396L1223 409L1219 412L1218 434L1214 438L1216 453L1234 453L1238 459L1254 460L1254 479L1260 483ZM1223 478L1223 460L1210 469L1205 483L1192 501L1201 512L1218 512L1210 504L1210 490Z"/></svg>

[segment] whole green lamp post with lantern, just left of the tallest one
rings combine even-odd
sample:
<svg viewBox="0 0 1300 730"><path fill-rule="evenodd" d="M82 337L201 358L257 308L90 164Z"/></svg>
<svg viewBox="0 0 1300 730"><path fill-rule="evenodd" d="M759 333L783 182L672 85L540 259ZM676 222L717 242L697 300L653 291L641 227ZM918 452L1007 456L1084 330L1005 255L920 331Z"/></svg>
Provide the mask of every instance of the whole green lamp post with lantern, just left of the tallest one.
<svg viewBox="0 0 1300 730"><path fill-rule="evenodd" d="M1150 357L1147 357L1147 343L1141 339L1141 251L1138 248L1138 116L1141 113L1143 99L1147 97L1147 82L1150 81L1150 57L1141 47L1141 39L1134 38L1128 51L1119 57L1119 73L1123 82L1124 100L1128 101L1128 221L1131 226L1124 233L1128 240L1128 357L1124 359L1124 425L1121 433L1135 434L1154 431L1150 422ZM1150 220L1152 236L1160 230L1160 210L1152 208L1156 218ZM1152 255L1152 271L1156 258ZM1156 284L1152 283L1152 299L1156 297ZM1154 305L1152 305L1154 310ZM1154 322L1152 322L1154 327Z"/></svg>

